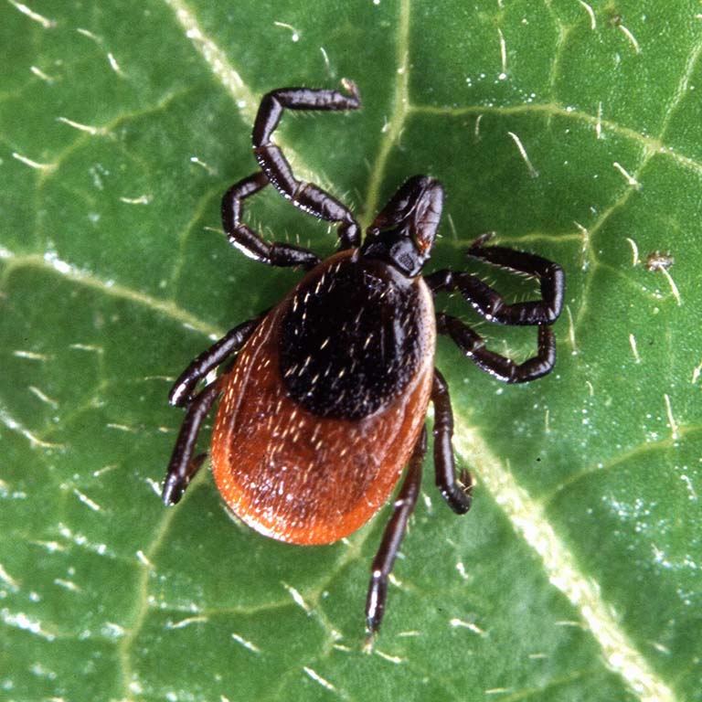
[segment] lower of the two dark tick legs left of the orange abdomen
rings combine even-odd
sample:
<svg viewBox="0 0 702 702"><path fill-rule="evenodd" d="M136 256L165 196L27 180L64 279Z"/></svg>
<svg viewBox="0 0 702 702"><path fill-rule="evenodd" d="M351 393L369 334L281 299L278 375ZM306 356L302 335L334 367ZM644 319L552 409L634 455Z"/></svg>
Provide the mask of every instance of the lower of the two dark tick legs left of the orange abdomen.
<svg viewBox="0 0 702 702"><path fill-rule="evenodd" d="M220 392L219 382L215 380L202 390L187 408L186 419L180 427L171 462L168 463L165 473L164 491L161 494L165 505L176 505L180 501L187 485L207 458L207 453L193 458L193 453L200 426Z"/></svg>

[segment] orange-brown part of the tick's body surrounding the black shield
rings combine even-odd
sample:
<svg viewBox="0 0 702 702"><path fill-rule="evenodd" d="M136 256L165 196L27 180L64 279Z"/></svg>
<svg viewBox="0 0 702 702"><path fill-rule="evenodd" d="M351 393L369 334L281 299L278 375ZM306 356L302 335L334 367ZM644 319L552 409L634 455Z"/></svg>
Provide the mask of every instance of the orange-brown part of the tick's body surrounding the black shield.
<svg viewBox="0 0 702 702"><path fill-rule="evenodd" d="M417 351L417 363L402 377L397 392L386 391L387 397L378 409L360 419L348 419L354 412L344 410L343 402L331 406L334 411L327 414L333 416L320 416L321 410L308 409L292 396L291 385L282 372L283 321L295 300L304 299L306 291L315 286L319 288L317 283L324 281L325 271L339 262L342 266L357 265L351 256L350 251L344 251L311 271L261 322L241 350L235 367L223 379L223 398L212 441L212 466L219 491L246 524L282 541L330 543L365 524L397 484L430 399L435 327L431 293L420 279L409 282L415 305L411 343ZM375 273L364 269L363 274L372 277ZM401 298L406 293L398 291L396 283L394 279L383 283L388 287L378 293L383 300L388 295L398 293ZM348 310L332 308L329 314L334 313L348 317ZM371 313L368 309L367 314ZM389 338L389 331L381 335L379 363L389 357L393 343L407 346L403 334L401 329L396 330L394 340ZM301 338L301 343L307 343L304 336ZM320 345L325 338L319 339ZM372 342L362 338L358 343L367 347ZM353 343L347 352L349 358L354 357ZM341 372L338 367L354 367L352 361L345 365L342 359L340 363L335 367L337 375ZM361 371L348 370L349 374L353 372ZM363 385L364 378L367 380L367 376L351 378L353 386ZM318 381L311 376L313 386ZM299 393L299 382L295 388ZM348 386L339 388L339 392L345 392ZM371 409L376 405L368 404Z"/></svg>

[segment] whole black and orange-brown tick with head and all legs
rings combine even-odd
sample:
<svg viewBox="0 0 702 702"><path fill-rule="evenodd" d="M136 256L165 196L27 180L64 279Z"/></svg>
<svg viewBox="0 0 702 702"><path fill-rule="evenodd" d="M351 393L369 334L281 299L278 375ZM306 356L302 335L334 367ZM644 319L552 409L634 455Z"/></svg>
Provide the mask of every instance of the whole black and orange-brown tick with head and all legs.
<svg viewBox="0 0 702 702"><path fill-rule="evenodd" d="M449 390L434 368L436 334L495 378L521 383L546 375L555 362L550 328L563 303L563 271L530 253L485 246L473 259L538 279L541 299L505 303L466 272L425 277L422 268L441 219L443 189L414 176L399 188L361 242L356 219L334 197L298 180L271 134L288 110L356 110L356 85L344 92L284 88L261 101L253 152L261 170L231 186L222 201L229 241L272 266L299 266L303 280L277 306L239 324L186 368L171 404L186 409L165 476L164 502L174 505L205 454L197 433L221 397L212 438L212 471L231 511L266 536L293 544L327 544L365 524L388 501L405 467L393 513L373 561L366 618L376 633L388 575L420 492L427 447L424 426L434 404L434 471L441 495L461 515L471 505L471 477L456 476ZM271 184L315 218L338 224L339 250L326 261L313 251L269 243L241 221L244 199ZM433 295L457 291L498 324L537 326L537 355L521 364L495 354L460 319L434 312ZM197 391L207 374L233 367Z"/></svg>

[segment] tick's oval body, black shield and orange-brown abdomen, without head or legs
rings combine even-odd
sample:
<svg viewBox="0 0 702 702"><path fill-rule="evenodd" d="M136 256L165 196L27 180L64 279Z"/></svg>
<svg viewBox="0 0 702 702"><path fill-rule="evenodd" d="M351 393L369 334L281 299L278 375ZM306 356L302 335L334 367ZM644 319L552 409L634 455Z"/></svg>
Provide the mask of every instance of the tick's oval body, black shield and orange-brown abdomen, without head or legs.
<svg viewBox="0 0 702 702"><path fill-rule="evenodd" d="M435 336L421 278L350 250L310 271L224 379L212 470L232 511L296 544L364 525L424 424Z"/></svg>

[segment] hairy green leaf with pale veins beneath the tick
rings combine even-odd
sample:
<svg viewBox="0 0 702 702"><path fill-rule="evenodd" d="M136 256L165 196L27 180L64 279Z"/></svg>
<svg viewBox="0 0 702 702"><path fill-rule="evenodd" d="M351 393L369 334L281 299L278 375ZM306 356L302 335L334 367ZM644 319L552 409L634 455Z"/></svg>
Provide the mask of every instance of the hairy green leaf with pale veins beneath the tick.
<svg viewBox="0 0 702 702"><path fill-rule="evenodd" d="M11 0L0 20L0 697L702 700L697 2ZM454 516L428 462L370 655L388 508L299 548L232 522L207 472L157 496L173 378L299 279L220 232L257 103L342 77L362 111L276 133L304 177L367 224L431 174L428 270L495 230L568 276L548 378L502 386L440 340L474 506ZM275 193L247 217L334 250ZM649 271L654 251L675 262ZM479 329L533 353L533 329Z"/></svg>

